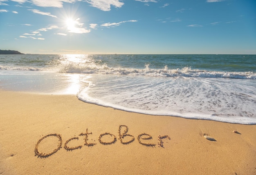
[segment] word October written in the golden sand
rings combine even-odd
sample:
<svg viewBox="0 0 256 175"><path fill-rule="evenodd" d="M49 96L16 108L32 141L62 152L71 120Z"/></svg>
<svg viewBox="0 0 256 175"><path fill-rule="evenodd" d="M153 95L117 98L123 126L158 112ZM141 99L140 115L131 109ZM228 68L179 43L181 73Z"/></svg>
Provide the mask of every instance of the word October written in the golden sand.
<svg viewBox="0 0 256 175"><path fill-rule="evenodd" d="M124 132L121 133L122 130L124 130ZM135 140L135 137L133 135L127 134L127 132L128 132L128 127L126 125L120 125L119 126L118 134L119 134L119 140L121 141L122 144L129 144L130 142ZM79 136L85 136L85 138L84 138L84 141L85 141L84 145L85 146L95 145L96 143L88 143L88 135L92 135L92 132L88 132L88 129L86 129L86 132L81 133ZM40 145L40 142L43 141L45 138L51 137L51 136L58 138L58 146L54 150L52 150L52 152L50 152L50 153L40 152L38 150L38 146ZM126 137L128 139L124 139L124 137ZM164 138L168 138L169 140L171 139L168 135L162 135L162 136L159 135L157 144L161 147L164 147L163 142L162 142L162 139L164 139ZM79 139L78 137L72 137L72 138L68 139L64 144L64 148L66 150L74 150L74 149L82 148L83 147L82 145L78 145L78 146L74 146L74 147L69 147L68 146L70 141L78 140L78 139ZM149 134L146 134L146 133L142 133L142 134L137 136L137 140L138 140L139 144L142 144L142 145L145 145L145 146L155 146L156 145L156 144L153 144L153 143L146 143L146 142L143 141L143 140L148 140L148 139L152 139L152 137ZM110 145L110 144L113 144L117 141L117 137L115 135L109 133L109 132L105 132L105 133L102 133L101 135L99 135L98 140L99 140L100 144ZM42 137L41 139L38 140L38 142L36 143L35 153L39 157L48 157L48 156L56 153L61 148L61 145L62 145L61 135L59 135L59 134L49 134L49 135L46 135L46 136L44 136L44 137Z"/></svg>

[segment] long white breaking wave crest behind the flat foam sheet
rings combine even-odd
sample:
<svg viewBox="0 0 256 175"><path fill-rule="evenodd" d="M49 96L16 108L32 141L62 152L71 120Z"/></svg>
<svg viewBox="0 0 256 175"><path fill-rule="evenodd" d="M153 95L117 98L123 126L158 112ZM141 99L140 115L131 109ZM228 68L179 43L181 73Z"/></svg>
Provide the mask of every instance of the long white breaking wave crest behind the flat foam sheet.
<svg viewBox="0 0 256 175"><path fill-rule="evenodd" d="M124 67L108 67L106 64L79 64L67 63L58 65L57 72L62 73L79 73L79 74L120 74L120 75L140 75L140 76L161 76L161 77L201 77L201 78L232 78L232 79L256 79L254 72L216 72L207 70L191 69L191 67L183 67L182 69L150 69L149 64L144 69L124 68Z"/></svg>

